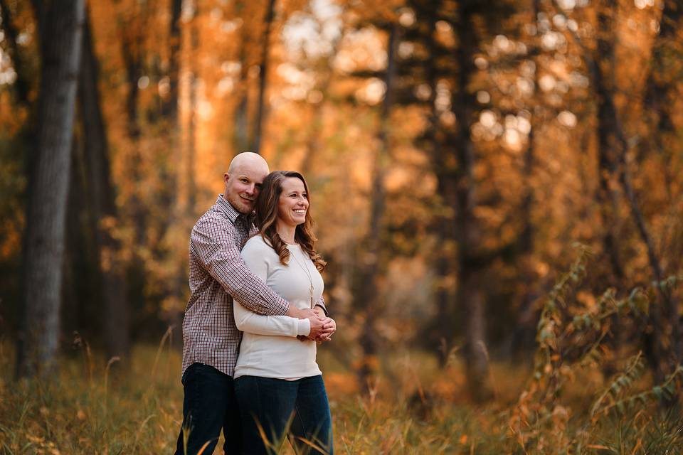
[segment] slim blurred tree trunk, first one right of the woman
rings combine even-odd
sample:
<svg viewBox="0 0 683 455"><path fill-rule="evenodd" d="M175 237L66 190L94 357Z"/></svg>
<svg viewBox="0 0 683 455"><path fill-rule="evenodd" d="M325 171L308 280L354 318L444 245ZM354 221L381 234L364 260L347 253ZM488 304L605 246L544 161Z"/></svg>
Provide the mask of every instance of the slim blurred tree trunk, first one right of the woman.
<svg viewBox="0 0 683 455"><path fill-rule="evenodd" d="M372 189L370 206L370 226L364 251L362 270L361 291L357 298L359 304L364 306L364 326L361 330L361 348L363 350L363 363L359 370L359 380L361 387L369 386L369 380L376 373L378 334L375 323L380 317L382 307L381 296L378 293L379 278L383 273L381 269L383 261L382 234L383 218L386 208L386 191L384 188L384 174L386 162L388 161L388 123L392 106L392 92L394 79L396 77L396 41L398 34L398 24L394 23L389 32L387 43L387 66L384 75L386 92L380 113L380 125L377 134L379 149L376 152L372 168ZM359 305L360 306L360 305ZM367 391L367 389L366 389Z"/></svg>

